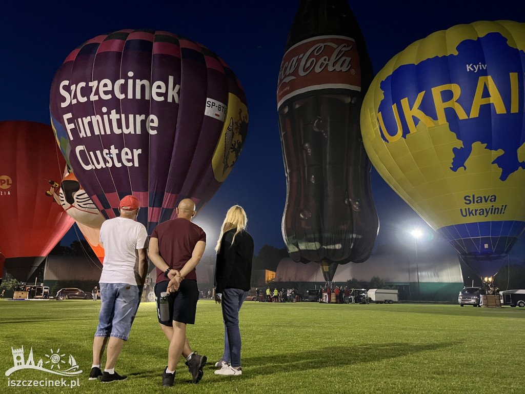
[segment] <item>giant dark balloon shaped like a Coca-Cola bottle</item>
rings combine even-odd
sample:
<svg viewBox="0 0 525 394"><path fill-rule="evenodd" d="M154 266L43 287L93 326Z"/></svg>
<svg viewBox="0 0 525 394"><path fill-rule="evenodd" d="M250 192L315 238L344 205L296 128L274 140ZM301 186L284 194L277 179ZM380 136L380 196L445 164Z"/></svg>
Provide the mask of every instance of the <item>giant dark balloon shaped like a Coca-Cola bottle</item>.
<svg viewBox="0 0 525 394"><path fill-rule="evenodd" d="M303 0L279 70L277 107L287 200L282 234L295 261L370 257L379 229L359 114L373 70L345 0Z"/></svg>

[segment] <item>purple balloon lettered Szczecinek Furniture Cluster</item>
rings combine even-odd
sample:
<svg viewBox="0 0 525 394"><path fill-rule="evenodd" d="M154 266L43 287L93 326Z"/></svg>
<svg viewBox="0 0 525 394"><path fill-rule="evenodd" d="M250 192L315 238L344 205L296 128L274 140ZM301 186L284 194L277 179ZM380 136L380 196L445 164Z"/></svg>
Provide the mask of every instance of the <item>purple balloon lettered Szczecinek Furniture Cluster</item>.
<svg viewBox="0 0 525 394"><path fill-rule="evenodd" d="M197 211L226 179L246 139L235 74L212 51L154 30L120 30L72 51L50 112L70 167L106 218L137 196L151 234L183 198Z"/></svg>

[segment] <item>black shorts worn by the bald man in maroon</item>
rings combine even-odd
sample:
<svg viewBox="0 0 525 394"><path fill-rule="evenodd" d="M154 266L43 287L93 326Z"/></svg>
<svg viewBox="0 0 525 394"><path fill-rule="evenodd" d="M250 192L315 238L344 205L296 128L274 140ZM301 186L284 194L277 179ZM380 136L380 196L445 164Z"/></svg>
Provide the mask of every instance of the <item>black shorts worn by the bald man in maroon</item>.
<svg viewBox="0 0 525 394"><path fill-rule="evenodd" d="M167 322L161 320L159 310L159 301L161 293L167 289L169 281L159 282L155 285L155 304L157 305L157 318L159 323L165 326L173 326L173 320L179 323L195 324L195 313L197 310L198 287L197 281L184 279L181 282L178 291L170 293L167 297L170 307L170 320Z"/></svg>

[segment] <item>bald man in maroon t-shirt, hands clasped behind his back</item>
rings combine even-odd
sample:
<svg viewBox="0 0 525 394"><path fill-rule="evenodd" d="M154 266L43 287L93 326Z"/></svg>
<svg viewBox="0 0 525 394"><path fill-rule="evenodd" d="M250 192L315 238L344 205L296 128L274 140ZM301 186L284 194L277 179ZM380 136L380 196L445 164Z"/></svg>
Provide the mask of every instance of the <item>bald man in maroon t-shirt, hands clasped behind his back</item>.
<svg viewBox="0 0 525 394"><path fill-rule="evenodd" d="M194 353L186 338L186 325L195 324L198 287L195 267L201 261L206 247L206 233L191 222L196 214L195 203L182 200L177 208L177 219L155 227L150 238L148 257L157 267L155 300L157 316L162 331L170 341L167 367L162 374L162 386L171 387L175 380L175 367L183 355L192 382L198 383L203 376L206 356ZM160 297L166 292L170 317L161 320Z"/></svg>

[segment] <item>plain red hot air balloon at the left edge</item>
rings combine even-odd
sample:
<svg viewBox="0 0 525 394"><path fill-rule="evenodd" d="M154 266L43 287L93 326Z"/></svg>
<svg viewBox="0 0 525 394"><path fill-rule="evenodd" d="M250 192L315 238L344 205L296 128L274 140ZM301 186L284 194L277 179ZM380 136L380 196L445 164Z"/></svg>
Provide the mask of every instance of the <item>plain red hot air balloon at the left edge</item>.
<svg viewBox="0 0 525 394"><path fill-rule="evenodd" d="M0 122L0 157L0 247L6 272L26 281L73 224L46 195L66 162L50 126L23 121Z"/></svg>

